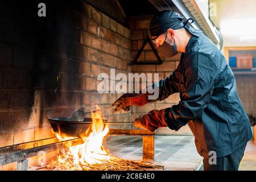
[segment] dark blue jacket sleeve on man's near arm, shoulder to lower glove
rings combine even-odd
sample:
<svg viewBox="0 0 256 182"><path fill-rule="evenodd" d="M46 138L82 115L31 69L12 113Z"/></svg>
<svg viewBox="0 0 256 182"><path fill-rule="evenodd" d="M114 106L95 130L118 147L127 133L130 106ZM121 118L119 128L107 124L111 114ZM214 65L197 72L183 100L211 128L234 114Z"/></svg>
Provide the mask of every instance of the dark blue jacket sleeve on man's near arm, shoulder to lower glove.
<svg viewBox="0 0 256 182"><path fill-rule="evenodd" d="M184 61L184 92L179 104L165 109L167 126L179 130L189 120L199 118L210 103L218 68L204 53L192 52Z"/></svg>

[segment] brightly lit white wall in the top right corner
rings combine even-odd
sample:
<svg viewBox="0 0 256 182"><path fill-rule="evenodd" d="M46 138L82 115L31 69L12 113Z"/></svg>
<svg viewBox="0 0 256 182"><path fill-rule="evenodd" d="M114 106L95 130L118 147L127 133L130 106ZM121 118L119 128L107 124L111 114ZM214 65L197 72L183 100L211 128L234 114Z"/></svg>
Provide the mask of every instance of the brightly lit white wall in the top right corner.
<svg viewBox="0 0 256 182"><path fill-rule="evenodd" d="M210 18L216 27L220 28L224 46L256 46L255 0L210 0L210 3L213 5L210 7L216 7L216 14L211 14ZM224 26L221 24L230 20L234 23L230 23L228 25L230 30L224 32L225 24Z"/></svg>

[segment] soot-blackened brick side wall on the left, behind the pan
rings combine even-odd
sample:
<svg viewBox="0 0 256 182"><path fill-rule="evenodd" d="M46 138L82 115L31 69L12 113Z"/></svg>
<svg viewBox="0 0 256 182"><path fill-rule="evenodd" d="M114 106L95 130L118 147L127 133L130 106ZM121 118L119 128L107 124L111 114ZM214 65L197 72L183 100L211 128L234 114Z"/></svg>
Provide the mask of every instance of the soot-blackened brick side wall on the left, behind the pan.
<svg viewBox="0 0 256 182"><path fill-rule="evenodd" d="M0 147L53 137L48 117L109 106L97 75L128 73L130 30L84 1L0 2ZM104 113L129 121L130 113Z"/></svg>

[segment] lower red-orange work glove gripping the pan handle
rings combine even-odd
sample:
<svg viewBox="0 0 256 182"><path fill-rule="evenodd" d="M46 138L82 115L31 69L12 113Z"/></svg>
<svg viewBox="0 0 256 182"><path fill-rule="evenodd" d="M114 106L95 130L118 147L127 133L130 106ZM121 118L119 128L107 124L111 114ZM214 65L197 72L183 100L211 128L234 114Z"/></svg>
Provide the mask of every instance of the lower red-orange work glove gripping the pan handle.
<svg viewBox="0 0 256 182"><path fill-rule="evenodd" d="M167 126L166 119L164 117L164 109L151 110L149 113L140 115L135 119L134 126L141 127L142 129L155 131L159 127Z"/></svg>

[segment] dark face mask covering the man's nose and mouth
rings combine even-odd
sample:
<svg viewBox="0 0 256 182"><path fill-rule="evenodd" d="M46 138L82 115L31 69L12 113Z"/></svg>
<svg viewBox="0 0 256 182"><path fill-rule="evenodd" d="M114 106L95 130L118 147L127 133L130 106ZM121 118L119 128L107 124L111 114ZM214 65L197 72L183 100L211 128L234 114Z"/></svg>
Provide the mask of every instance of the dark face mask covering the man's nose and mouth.
<svg viewBox="0 0 256 182"><path fill-rule="evenodd" d="M161 55L166 57L172 57L177 54L177 47L175 45L175 40L173 43L170 44L166 42L166 40L164 39L164 43L156 49L160 52Z"/></svg>

